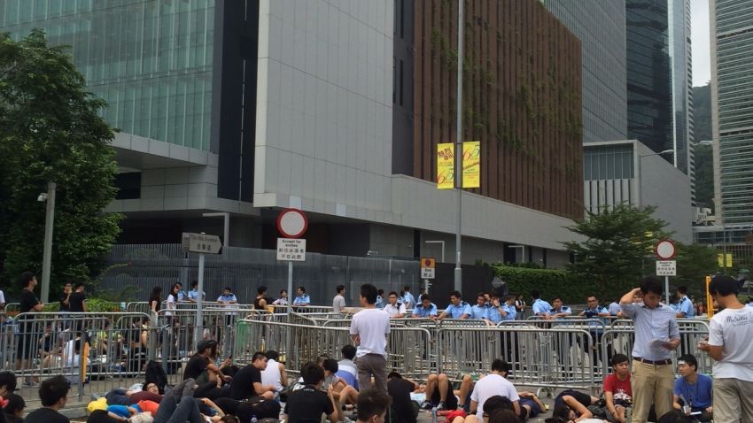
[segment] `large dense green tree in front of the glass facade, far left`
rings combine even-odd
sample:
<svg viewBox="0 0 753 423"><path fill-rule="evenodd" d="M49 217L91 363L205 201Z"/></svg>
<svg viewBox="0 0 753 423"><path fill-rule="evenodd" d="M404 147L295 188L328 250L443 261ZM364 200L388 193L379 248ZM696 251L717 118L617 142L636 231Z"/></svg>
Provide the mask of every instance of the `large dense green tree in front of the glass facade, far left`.
<svg viewBox="0 0 753 423"><path fill-rule="evenodd" d="M108 144L113 129L97 112L105 102L86 91L62 47L42 31L16 42L0 35L0 274L41 270L47 182L58 186L51 284L98 273L119 234L113 201L117 174Z"/></svg>

